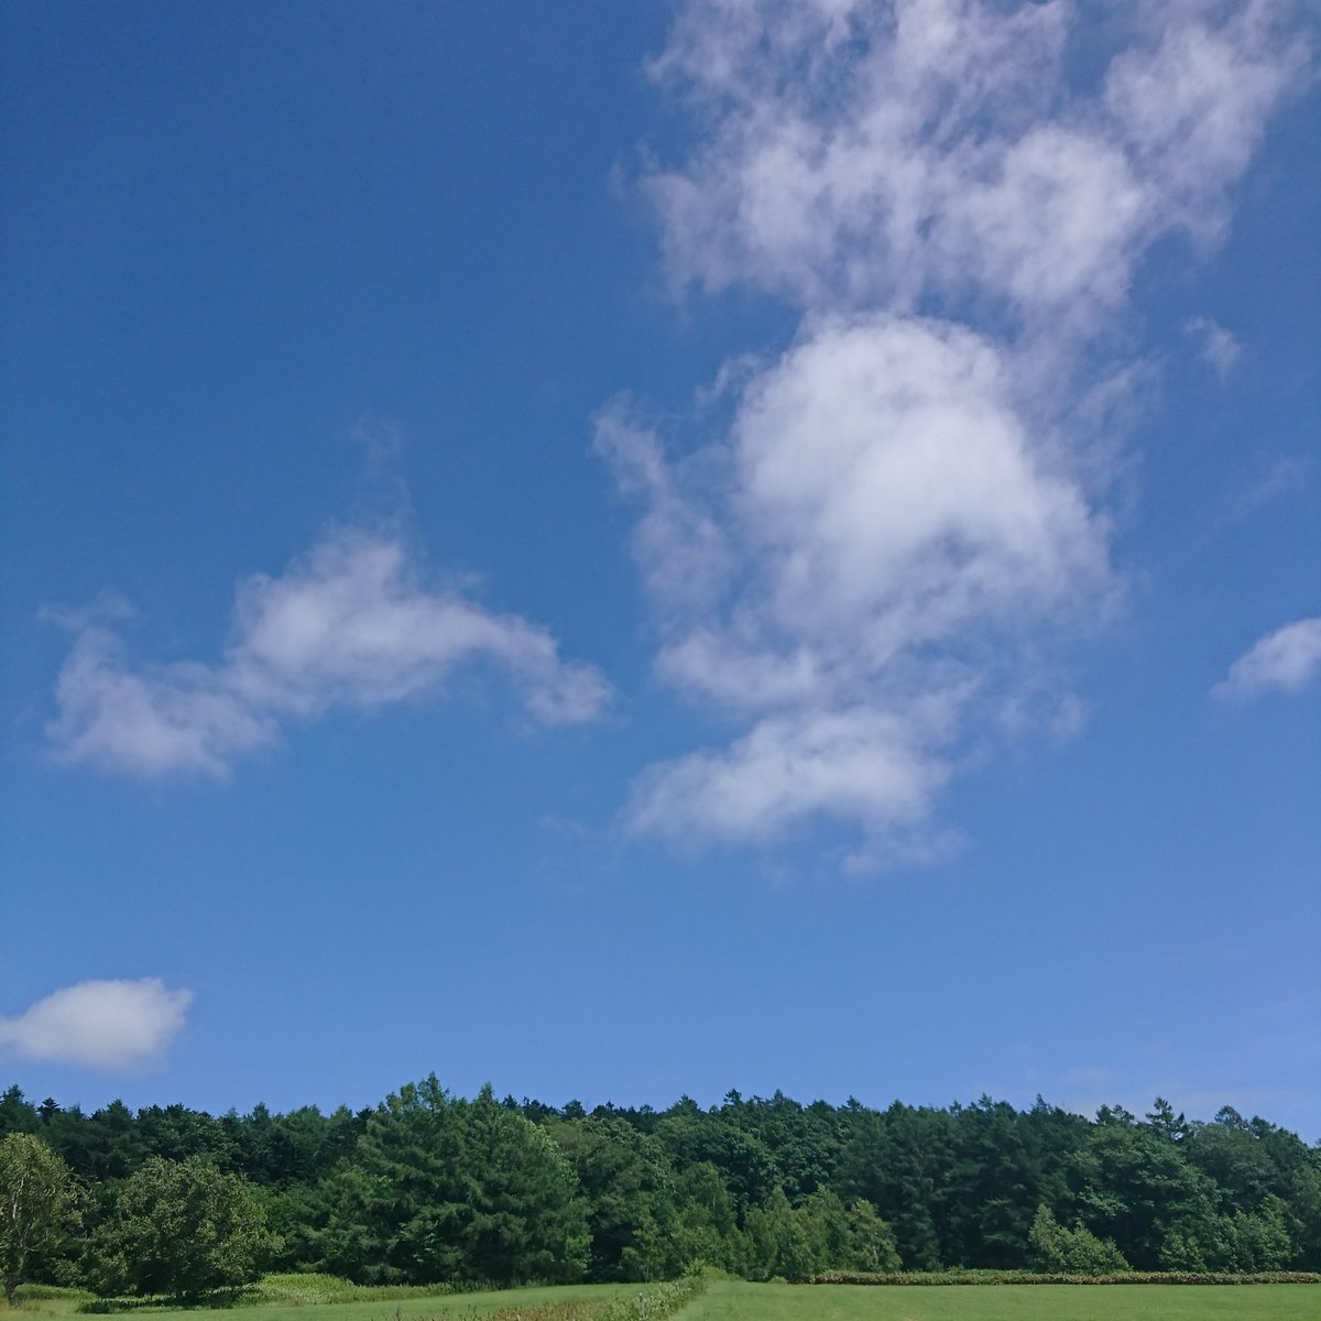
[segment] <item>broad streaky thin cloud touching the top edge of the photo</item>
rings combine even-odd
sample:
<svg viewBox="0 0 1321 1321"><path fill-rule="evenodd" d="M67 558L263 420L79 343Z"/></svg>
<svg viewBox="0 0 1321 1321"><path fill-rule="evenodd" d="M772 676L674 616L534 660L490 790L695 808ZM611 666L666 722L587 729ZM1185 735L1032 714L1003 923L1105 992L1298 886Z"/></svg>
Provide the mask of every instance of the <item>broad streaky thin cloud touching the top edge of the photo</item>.
<svg viewBox="0 0 1321 1321"><path fill-rule="evenodd" d="M1219 232L1305 59L1291 8L1116 7L1132 45L1074 87L1062 0L692 0L653 65L701 137L645 184L671 271L804 306L971 291L1052 334L1094 325L1153 239Z"/></svg>

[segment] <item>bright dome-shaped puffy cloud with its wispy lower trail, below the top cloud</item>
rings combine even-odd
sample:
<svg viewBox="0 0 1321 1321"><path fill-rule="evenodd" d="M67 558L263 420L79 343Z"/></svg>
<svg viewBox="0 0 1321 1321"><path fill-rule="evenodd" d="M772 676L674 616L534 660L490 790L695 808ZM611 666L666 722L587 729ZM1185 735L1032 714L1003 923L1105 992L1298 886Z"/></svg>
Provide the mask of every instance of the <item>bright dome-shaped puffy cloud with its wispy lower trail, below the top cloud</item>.
<svg viewBox="0 0 1321 1321"><path fill-rule="evenodd" d="M701 481L624 415L602 421L653 501L635 551L666 592L658 670L752 721L645 773L631 828L765 841L824 816L878 836L930 811L975 703L987 721L1022 709L1005 678L1036 678L1042 622L1094 617L1115 585L1104 520L1013 395L984 338L877 314L820 322L753 376ZM671 573L717 526L737 573Z"/></svg>

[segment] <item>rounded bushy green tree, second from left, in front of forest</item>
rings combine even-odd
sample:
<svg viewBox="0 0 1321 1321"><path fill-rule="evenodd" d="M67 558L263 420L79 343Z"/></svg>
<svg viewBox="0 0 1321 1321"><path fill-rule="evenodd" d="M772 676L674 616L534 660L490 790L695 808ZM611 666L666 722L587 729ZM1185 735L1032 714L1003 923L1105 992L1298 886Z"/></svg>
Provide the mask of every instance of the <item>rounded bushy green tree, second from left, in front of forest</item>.
<svg viewBox="0 0 1321 1321"><path fill-rule="evenodd" d="M107 1293L196 1299L255 1280L279 1246L246 1178L199 1156L153 1156L98 1226L92 1272Z"/></svg>

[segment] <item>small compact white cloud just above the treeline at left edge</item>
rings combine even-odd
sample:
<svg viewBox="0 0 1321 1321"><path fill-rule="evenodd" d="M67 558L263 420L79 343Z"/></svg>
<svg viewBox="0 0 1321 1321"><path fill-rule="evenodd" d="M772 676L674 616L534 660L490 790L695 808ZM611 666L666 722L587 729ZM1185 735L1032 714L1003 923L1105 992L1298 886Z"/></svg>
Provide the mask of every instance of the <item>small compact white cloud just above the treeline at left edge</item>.
<svg viewBox="0 0 1321 1321"><path fill-rule="evenodd" d="M182 1032L192 1001L160 978L79 982L0 1017L0 1052L92 1069L149 1063Z"/></svg>

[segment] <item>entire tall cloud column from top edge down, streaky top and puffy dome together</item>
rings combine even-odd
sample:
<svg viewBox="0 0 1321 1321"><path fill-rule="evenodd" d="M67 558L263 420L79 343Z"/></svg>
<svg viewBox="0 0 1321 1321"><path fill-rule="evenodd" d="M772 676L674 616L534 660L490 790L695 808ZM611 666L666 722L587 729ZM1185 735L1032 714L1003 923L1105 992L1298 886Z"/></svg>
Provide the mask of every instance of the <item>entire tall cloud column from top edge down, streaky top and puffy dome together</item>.
<svg viewBox="0 0 1321 1321"><path fill-rule="evenodd" d="M1223 232L1306 58L1291 13L1129 4L1083 77L1063 0L682 7L650 73L695 136L639 184L664 262L802 322L723 373L732 421L695 448L631 403L598 420L641 507L657 672L732 725L639 775L631 830L828 820L878 856L995 740L1077 725L1058 658L1123 596L1106 503L1133 378L1092 346L1157 239Z"/></svg>

